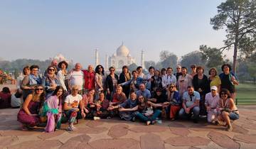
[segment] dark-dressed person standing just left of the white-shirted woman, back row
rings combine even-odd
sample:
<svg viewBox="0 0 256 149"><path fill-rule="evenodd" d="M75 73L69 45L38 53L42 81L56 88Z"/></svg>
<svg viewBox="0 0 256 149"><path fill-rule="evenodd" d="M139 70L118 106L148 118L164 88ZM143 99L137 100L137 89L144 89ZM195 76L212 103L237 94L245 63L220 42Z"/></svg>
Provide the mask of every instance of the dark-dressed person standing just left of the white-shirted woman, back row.
<svg viewBox="0 0 256 149"><path fill-rule="evenodd" d="M159 70L155 70L154 76L151 77L151 94L156 94L156 89L162 89L162 77Z"/></svg>

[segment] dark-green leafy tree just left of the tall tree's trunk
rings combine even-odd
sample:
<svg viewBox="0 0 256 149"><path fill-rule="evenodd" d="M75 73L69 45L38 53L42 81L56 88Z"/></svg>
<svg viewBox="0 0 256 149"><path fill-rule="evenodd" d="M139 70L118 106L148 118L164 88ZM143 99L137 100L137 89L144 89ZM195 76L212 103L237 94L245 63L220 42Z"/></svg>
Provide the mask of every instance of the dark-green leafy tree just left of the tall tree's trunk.
<svg viewBox="0 0 256 149"><path fill-rule="evenodd" d="M219 49L210 48L206 45L200 45L199 50L202 53L201 58L203 61L206 62L206 66L208 68L218 67L223 64L223 55Z"/></svg>

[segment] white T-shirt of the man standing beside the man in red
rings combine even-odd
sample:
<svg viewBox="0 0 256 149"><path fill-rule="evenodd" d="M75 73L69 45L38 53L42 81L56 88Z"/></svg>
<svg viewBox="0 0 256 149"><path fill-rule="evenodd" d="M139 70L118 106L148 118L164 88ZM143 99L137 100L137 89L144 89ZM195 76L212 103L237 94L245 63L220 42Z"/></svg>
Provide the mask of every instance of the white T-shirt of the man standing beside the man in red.
<svg viewBox="0 0 256 149"><path fill-rule="evenodd" d="M72 71L68 75L68 79L70 79L70 85L71 87L73 85L78 85L78 89L82 90L82 84L83 84L83 73L82 71Z"/></svg>

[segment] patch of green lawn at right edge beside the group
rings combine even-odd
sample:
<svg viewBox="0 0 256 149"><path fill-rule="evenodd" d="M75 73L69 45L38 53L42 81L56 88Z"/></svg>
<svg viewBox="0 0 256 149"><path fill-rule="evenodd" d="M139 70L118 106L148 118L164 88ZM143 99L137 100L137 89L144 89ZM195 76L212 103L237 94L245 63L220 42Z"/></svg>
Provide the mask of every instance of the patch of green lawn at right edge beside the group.
<svg viewBox="0 0 256 149"><path fill-rule="evenodd" d="M239 84L235 89L237 91L238 104L256 104L256 84Z"/></svg>

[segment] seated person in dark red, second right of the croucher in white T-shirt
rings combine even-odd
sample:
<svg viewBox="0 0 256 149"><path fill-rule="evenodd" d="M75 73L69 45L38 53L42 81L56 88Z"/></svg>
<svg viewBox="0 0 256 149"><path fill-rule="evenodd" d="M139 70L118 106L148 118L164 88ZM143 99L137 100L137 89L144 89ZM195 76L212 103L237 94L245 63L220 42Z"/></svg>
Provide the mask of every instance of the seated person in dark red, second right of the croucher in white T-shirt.
<svg viewBox="0 0 256 149"><path fill-rule="evenodd" d="M110 105L110 101L105 99L105 94L103 92L100 93L99 97L100 98L95 101L95 108L92 109L94 120L110 117L110 111L107 110Z"/></svg>

